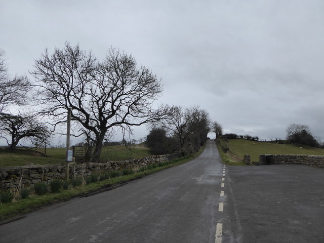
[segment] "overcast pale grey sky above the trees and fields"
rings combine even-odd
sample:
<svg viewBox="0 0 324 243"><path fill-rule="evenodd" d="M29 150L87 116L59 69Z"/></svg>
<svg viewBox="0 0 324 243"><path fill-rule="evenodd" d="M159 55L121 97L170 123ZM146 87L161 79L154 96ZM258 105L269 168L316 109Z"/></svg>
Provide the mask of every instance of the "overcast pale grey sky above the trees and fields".
<svg viewBox="0 0 324 243"><path fill-rule="evenodd" d="M295 123L324 140L322 0L0 0L10 74L65 42L132 54L161 78L158 103L199 105L225 133L285 139Z"/></svg>

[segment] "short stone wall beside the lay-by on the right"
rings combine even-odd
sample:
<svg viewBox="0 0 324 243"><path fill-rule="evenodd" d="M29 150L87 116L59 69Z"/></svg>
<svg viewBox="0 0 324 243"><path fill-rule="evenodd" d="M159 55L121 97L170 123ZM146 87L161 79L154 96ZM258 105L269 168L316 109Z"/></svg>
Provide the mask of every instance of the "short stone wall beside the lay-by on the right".
<svg viewBox="0 0 324 243"><path fill-rule="evenodd" d="M305 154L260 154L259 164L293 164L324 168L324 156Z"/></svg>

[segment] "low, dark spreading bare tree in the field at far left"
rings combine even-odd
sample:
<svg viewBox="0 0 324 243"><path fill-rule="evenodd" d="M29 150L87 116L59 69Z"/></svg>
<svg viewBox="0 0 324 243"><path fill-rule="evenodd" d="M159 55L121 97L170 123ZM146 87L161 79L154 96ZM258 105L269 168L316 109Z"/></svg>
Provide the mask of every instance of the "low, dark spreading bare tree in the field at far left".
<svg viewBox="0 0 324 243"><path fill-rule="evenodd" d="M33 114L0 113L0 137L6 139L9 149L15 150L22 139L32 143L45 144L51 132ZM10 141L8 140L10 137Z"/></svg>

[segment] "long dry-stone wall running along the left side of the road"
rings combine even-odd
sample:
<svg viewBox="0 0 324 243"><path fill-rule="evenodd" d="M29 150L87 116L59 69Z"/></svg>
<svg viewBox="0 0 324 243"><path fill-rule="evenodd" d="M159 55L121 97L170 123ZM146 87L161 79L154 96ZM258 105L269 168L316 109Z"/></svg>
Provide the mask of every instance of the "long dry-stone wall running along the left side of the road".
<svg viewBox="0 0 324 243"><path fill-rule="evenodd" d="M137 171L141 167L170 161L178 157L181 157L181 154L153 155L123 161L110 161L107 163L74 164L75 166L69 167L69 176L71 179L74 173L75 177L85 178L93 172L103 174L123 169ZM19 185L21 187L33 187L38 182L49 182L57 178L62 180L65 178L65 165L31 164L28 166L0 168L0 190L17 188Z"/></svg>

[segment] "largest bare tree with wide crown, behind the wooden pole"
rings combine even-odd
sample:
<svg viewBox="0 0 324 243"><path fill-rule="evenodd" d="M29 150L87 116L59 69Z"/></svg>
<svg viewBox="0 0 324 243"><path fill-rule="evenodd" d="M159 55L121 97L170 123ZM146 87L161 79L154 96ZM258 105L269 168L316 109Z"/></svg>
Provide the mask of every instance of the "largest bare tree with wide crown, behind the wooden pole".
<svg viewBox="0 0 324 243"><path fill-rule="evenodd" d="M43 112L64 121L66 110L84 127L93 141L93 158L99 161L103 141L113 128L130 130L163 118L167 106L153 108L161 94L160 80L147 67L137 67L135 59L110 48L106 59L98 62L79 46L65 44L63 50L48 50L35 61L31 72L38 81L38 101Z"/></svg>

